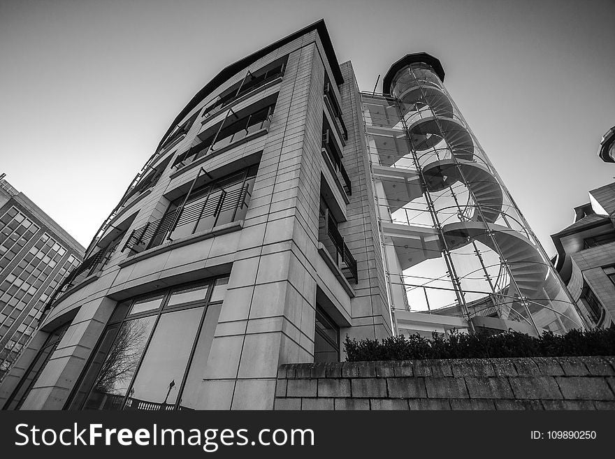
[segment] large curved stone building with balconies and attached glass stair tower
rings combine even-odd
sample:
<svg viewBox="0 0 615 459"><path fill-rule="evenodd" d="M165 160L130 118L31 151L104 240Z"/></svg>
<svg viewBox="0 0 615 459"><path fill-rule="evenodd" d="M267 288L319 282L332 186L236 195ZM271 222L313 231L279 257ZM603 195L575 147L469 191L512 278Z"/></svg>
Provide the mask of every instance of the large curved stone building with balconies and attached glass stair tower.
<svg viewBox="0 0 615 459"><path fill-rule="evenodd" d="M428 54L362 94L324 21L180 111L0 388L5 409L270 409L349 337L584 326Z"/></svg>

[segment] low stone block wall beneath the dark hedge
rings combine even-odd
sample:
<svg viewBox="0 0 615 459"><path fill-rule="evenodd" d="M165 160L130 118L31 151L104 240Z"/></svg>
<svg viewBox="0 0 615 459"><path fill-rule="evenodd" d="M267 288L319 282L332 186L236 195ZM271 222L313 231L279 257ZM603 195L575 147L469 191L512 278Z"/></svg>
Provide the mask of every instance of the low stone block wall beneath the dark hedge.
<svg viewBox="0 0 615 459"><path fill-rule="evenodd" d="M615 357L281 365L274 409L615 409Z"/></svg>

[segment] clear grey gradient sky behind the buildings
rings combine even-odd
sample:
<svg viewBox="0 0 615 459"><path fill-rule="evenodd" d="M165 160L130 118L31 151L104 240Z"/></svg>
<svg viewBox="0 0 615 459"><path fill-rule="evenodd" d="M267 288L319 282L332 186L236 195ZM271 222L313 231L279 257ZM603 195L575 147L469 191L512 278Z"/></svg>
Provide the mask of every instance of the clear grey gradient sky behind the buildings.
<svg viewBox="0 0 615 459"><path fill-rule="evenodd" d="M614 181L615 2L564 0L0 0L0 173L87 246L198 89L321 17L363 90L409 52L442 61L549 254Z"/></svg>

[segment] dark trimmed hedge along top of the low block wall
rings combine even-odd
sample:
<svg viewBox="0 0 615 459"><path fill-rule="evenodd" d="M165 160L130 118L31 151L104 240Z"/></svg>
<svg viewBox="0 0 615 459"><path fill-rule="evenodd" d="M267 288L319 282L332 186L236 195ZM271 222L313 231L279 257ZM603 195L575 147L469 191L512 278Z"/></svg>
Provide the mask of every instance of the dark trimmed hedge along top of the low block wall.
<svg viewBox="0 0 615 459"><path fill-rule="evenodd" d="M403 335L384 340L351 340L344 342L346 359L422 360L426 358L489 358L549 356L613 356L615 328L570 330L565 335L545 332L541 337L510 331L498 335L468 335L451 330L444 336L432 333L431 339L420 335Z"/></svg>

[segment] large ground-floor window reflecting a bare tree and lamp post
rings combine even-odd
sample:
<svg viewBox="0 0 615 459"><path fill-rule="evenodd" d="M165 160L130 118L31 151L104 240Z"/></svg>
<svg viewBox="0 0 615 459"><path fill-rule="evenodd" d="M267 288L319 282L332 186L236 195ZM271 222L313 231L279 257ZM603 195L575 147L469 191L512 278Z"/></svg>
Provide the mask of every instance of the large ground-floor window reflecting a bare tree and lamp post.
<svg viewBox="0 0 615 459"><path fill-rule="evenodd" d="M198 409L226 279L115 308L70 409Z"/></svg>

